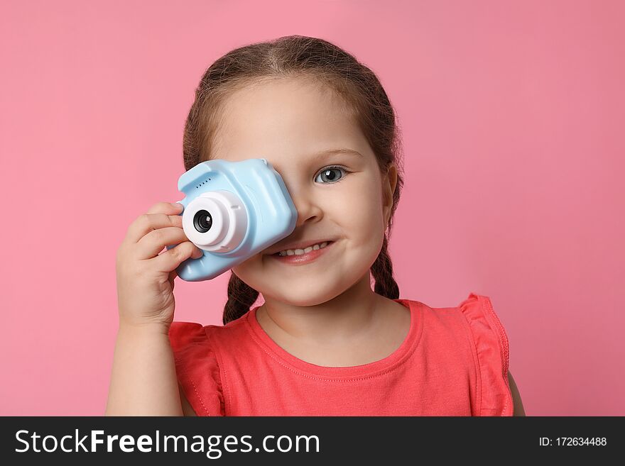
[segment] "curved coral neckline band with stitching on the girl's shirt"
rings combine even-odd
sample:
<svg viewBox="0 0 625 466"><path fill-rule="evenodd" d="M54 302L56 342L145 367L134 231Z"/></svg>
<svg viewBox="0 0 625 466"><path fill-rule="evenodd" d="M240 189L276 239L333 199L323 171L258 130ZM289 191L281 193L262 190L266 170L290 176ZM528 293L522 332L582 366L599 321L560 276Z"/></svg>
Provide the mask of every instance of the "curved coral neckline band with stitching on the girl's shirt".
<svg viewBox="0 0 625 466"><path fill-rule="evenodd" d="M271 337L263 330L259 321L256 318L256 310L261 306L254 306L251 311L246 315L246 323L248 330L252 333L256 343L259 343L261 348L268 353L274 360L286 365L291 370L296 372L305 372L309 375L317 375L323 377L362 377L364 375L371 377L379 372L388 372L393 368L398 367L406 360L412 353L412 350L418 344L420 340L422 325L421 325L421 304L418 301L412 301L410 299L393 299L393 301L402 304L409 309L411 314L411 325L408 330L408 335L404 338L403 343L393 353L384 357L381 360L369 362L363 365L348 366L348 367L332 367L332 366L320 366L306 362L304 360L295 357L288 353L288 351L281 348Z"/></svg>

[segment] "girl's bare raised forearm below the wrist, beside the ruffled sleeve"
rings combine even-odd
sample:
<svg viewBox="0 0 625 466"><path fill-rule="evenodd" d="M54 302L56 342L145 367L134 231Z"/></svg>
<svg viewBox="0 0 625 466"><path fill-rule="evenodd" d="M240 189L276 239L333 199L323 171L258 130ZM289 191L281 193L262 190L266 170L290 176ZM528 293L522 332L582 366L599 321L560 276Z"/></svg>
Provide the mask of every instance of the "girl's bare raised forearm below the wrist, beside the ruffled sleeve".
<svg viewBox="0 0 625 466"><path fill-rule="evenodd" d="M104 416L183 416L167 328L120 325Z"/></svg>

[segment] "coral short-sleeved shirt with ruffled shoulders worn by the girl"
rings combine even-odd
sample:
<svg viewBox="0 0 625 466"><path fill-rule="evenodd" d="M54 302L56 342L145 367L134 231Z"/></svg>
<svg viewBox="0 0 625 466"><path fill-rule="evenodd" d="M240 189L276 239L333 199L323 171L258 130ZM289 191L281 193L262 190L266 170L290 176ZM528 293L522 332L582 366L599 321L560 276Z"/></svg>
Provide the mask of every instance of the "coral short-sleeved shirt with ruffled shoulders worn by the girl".
<svg viewBox="0 0 625 466"><path fill-rule="evenodd" d="M178 381L198 416L511 416L508 338L487 296L411 313L384 359L324 367L290 355L254 307L225 326L173 322Z"/></svg>

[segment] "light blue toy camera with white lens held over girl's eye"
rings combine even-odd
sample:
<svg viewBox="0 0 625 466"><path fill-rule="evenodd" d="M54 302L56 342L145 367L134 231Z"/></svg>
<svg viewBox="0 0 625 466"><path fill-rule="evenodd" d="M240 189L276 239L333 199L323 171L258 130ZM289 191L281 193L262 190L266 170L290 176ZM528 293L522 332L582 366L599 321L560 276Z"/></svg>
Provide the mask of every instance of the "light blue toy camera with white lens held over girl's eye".
<svg viewBox="0 0 625 466"><path fill-rule="evenodd" d="M187 282L213 279L295 229L293 200L265 159L201 162L178 179L178 190L185 235L204 250L176 269Z"/></svg>

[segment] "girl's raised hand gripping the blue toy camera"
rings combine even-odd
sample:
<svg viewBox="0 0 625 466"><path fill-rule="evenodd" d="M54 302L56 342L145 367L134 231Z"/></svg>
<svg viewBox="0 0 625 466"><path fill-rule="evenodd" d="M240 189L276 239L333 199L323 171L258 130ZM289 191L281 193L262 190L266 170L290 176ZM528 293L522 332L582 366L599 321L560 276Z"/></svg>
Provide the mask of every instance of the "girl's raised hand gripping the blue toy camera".
<svg viewBox="0 0 625 466"><path fill-rule="evenodd" d="M167 330L173 322L175 269L202 255L185 235L181 211L182 204L159 202L128 227L116 258L120 327ZM174 244L175 248L165 249Z"/></svg>

